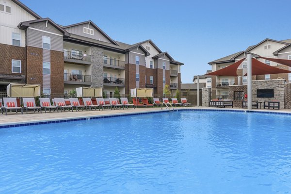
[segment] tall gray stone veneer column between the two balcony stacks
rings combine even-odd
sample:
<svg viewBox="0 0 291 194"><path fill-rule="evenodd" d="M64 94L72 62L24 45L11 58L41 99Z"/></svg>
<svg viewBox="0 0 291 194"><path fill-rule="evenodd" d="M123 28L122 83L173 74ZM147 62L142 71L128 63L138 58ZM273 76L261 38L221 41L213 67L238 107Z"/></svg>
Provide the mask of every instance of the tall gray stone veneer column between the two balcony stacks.
<svg viewBox="0 0 291 194"><path fill-rule="evenodd" d="M91 87L103 88L103 49L91 47Z"/></svg>

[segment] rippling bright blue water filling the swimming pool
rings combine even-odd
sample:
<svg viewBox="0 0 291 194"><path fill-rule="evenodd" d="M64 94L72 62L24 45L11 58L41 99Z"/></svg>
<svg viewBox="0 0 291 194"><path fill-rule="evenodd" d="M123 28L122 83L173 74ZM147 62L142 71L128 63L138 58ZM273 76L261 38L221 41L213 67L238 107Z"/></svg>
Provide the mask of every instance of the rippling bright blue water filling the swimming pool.
<svg viewBox="0 0 291 194"><path fill-rule="evenodd" d="M289 194L290 123L182 111L0 129L0 193Z"/></svg>

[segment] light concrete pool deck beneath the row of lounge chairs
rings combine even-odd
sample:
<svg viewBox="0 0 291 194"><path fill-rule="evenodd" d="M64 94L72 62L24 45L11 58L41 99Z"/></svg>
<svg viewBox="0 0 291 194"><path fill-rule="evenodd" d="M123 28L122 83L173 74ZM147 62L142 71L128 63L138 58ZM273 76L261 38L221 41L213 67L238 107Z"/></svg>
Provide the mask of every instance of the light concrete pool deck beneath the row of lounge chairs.
<svg viewBox="0 0 291 194"><path fill-rule="evenodd" d="M174 110L221 110L221 111L249 111L242 108L213 108L213 107L175 107ZM78 119L78 118L88 118L88 117L98 117L98 116L111 116L111 115L123 115L123 114L136 114L136 113L150 113L150 112L167 112L168 110L163 108L135 108L135 109L116 109L116 110L104 110L104 111L78 111L76 112L47 112L47 113L34 113L26 112L21 113L5 113L0 114L0 126L7 126L12 124L25 124L33 122L43 122L43 121L56 121L56 120L66 120L66 119ZM255 112L272 112L272 113L288 113L291 114L291 110L273 110L273 109L252 109Z"/></svg>

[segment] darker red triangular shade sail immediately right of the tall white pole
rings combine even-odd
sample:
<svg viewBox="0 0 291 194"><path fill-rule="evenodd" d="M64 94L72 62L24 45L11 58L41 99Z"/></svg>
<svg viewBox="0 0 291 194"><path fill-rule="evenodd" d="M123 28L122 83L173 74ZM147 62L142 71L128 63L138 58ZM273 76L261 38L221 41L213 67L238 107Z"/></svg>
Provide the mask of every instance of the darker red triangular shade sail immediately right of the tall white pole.
<svg viewBox="0 0 291 194"><path fill-rule="evenodd" d="M264 58L269 60L269 58ZM271 60L270 60L271 61ZM266 65L254 58L252 58L252 75L266 75L266 74L278 74L278 73L291 73L289 70L279 69L274 66ZM247 76L247 73L244 75Z"/></svg>

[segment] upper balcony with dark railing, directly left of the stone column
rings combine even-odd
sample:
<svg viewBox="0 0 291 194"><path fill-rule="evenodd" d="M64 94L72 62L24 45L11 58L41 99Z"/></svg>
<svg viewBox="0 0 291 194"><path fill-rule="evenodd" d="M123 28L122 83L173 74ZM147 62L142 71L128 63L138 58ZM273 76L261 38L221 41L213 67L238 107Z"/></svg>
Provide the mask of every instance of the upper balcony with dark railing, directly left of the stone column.
<svg viewBox="0 0 291 194"><path fill-rule="evenodd" d="M71 51L64 51L64 61L73 64L84 64L90 65L91 64L91 55L71 52Z"/></svg>

